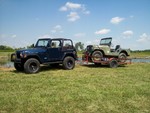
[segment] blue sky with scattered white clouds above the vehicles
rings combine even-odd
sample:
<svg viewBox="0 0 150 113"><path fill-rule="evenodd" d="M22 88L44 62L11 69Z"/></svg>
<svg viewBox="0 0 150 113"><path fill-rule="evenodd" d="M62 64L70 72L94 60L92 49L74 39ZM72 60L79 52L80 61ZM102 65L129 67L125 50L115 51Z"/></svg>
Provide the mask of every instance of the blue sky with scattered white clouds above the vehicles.
<svg viewBox="0 0 150 113"><path fill-rule="evenodd" d="M84 45L150 49L150 0L0 0L0 45L24 47L38 38Z"/></svg>

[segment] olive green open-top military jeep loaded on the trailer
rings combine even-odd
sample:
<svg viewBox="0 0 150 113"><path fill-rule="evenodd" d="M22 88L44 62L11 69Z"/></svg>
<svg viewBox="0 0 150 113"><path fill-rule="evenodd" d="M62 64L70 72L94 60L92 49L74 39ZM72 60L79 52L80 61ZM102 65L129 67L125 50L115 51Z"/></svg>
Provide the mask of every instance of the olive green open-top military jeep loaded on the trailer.
<svg viewBox="0 0 150 113"><path fill-rule="evenodd" d="M112 38L102 38L100 45L88 45L83 55L83 59L88 57L89 62L94 62L97 64L98 61L104 58L118 58L120 62L125 62L127 56L130 55L130 49L122 49L120 45L116 45L115 49L111 49Z"/></svg>

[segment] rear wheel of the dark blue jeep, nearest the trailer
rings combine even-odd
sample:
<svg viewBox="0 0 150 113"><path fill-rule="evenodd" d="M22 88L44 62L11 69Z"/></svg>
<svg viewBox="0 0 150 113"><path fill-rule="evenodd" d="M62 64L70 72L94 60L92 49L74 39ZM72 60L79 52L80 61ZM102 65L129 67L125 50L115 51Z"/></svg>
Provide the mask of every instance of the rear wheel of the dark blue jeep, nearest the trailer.
<svg viewBox="0 0 150 113"><path fill-rule="evenodd" d="M75 67L75 59L73 57L67 56L63 60L63 67L66 70L71 70Z"/></svg>

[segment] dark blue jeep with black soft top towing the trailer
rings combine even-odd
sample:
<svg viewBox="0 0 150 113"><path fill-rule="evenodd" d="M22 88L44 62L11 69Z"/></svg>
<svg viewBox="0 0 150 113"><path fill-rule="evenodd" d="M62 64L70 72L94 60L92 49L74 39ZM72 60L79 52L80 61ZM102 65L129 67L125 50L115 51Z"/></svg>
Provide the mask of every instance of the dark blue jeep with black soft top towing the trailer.
<svg viewBox="0 0 150 113"><path fill-rule="evenodd" d="M77 52L70 39L39 39L31 49L18 50L11 54L11 61L17 71L37 73L40 64L59 65L70 70L75 67Z"/></svg>

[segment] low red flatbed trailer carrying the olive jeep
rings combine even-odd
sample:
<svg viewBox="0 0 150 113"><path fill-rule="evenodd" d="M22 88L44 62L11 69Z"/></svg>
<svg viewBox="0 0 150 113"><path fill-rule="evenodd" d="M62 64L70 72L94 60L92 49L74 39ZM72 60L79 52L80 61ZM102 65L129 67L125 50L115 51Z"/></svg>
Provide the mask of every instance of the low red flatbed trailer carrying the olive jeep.
<svg viewBox="0 0 150 113"><path fill-rule="evenodd" d="M121 65L127 65L127 64L131 64L131 60L130 58L116 58L116 57L94 57L101 59L101 60L94 60L91 62L91 60L93 57L89 56L88 54L86 54L86 56L82 57L82 64L89 64L89 63L94 63L95 65L99 66L99 65L108 65L110 68L117 68L118 66Z"/></svg>

